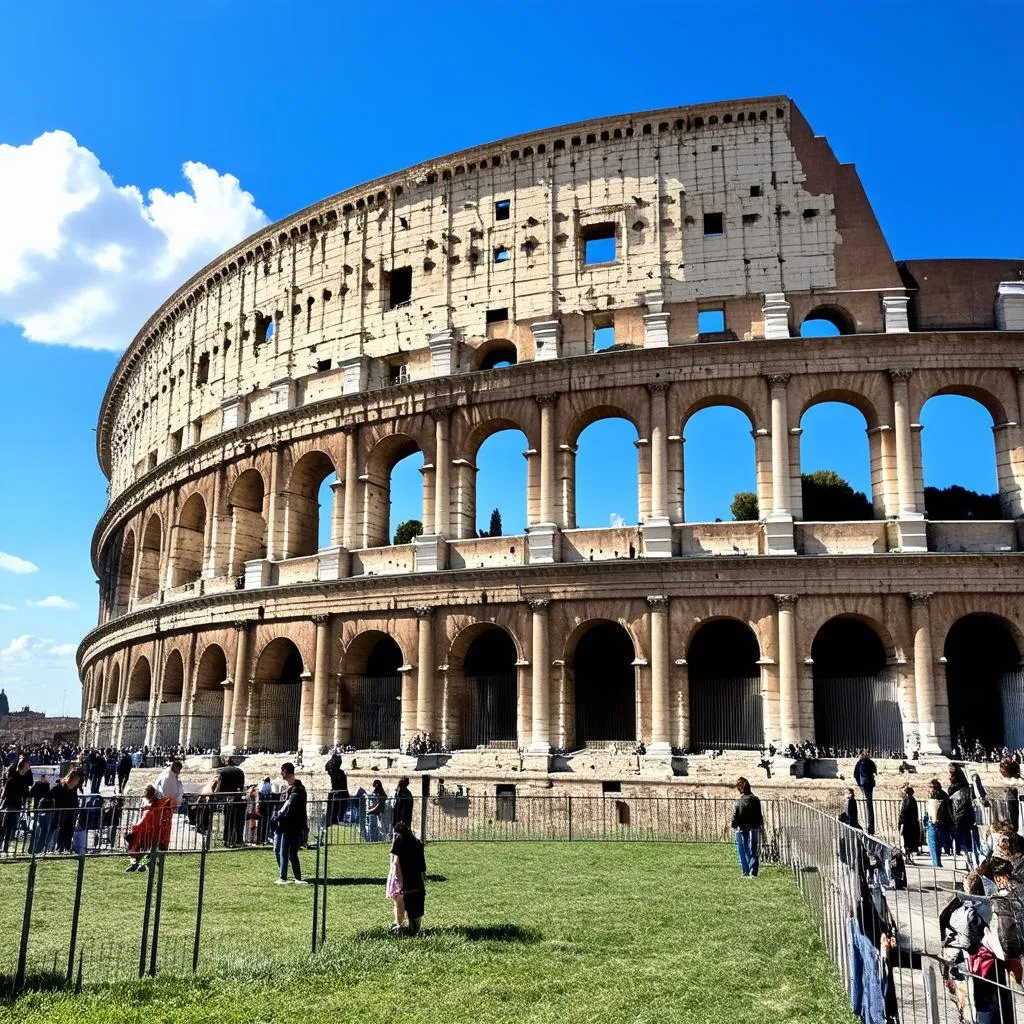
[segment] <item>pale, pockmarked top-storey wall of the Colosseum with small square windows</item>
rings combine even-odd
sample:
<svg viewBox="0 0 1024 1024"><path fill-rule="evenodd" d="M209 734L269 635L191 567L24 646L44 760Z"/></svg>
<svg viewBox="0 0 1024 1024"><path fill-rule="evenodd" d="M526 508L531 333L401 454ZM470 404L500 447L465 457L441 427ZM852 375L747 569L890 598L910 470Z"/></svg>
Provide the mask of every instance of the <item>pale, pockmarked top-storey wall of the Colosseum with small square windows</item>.
<svg viewBox="0 0 1024 1024"><path fill-rule="evenodd" d="M589 265L586 242L604 233L615 258ZM751 339L769 293L804 313L843 305L873 332L879 293L902 288L856 173L787 99L530 133L326 200L197 274L119 365L99 460L114 496L281 401L432 376L432 334L451 332L452 371L478 366L488 339L534 358L539 322L557 325L559 354L592 350L608 323L642 345L652 309L670 314L670 344L698 339L702 308Z"/></svg>

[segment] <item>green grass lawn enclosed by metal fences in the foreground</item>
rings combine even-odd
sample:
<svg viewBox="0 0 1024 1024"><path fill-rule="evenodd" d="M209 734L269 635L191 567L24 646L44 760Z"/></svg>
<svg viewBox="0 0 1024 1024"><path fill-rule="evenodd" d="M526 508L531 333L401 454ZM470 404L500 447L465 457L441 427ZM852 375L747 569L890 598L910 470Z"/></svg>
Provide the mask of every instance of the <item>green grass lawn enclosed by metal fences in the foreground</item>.
<svg viewBox="0 0 1024 1024"><path fill-rule="evenodd" d="M727 846L432 845L417 939L386 933L386 859L332 850L328 944L311 956L310 889L274 886L269 852L211 855L194 978L198 858L169 857L160 976L104 984L137 967L145 877L91 860L85 991L29 993L0 1004L0 1021L855 1021L791 874L741 880ZM0 973L14 968L25 874L0 864ZM34 969L67 962L74 882L74 863L40 865Z"/></svg>

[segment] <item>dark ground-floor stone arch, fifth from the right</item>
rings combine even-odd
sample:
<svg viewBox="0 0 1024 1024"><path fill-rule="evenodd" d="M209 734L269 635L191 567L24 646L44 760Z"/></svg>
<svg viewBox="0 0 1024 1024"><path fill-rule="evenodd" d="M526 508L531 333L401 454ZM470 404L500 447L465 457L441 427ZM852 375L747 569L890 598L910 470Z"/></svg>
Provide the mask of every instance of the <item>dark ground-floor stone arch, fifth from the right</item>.
<svg viewBox="0 0 1024 1024"><path fill-rule="evenodd" d="M452 641L443 698L442 739L451 748L517 742L516 638L497 623L472 623Z"/></svg>

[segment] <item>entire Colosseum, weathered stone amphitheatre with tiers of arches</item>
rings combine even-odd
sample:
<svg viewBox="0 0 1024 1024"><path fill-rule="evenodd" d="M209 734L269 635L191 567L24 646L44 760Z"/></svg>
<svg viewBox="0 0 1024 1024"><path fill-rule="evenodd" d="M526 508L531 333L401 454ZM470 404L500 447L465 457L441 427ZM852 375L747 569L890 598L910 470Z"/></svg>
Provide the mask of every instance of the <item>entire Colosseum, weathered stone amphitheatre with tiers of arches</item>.
<svg viewBox="0 0 1024 1024"><path fill-rule="evenodd" d="M429 734L453 770L541 777L641 741L660 777L807 739L1022 745L1022 342L1024 261L894 261L784 97L532 132L324 200L184 284L110 382L83 741ZM920 414L946 394L991 416L999 518L926 517ZM863 417L872 518L803 515L822 402ZM750 421L759 519L684 518L683 433L716 406ZM636 428L639 522L578 527L578 438L611 417ZM527 525L479 536L477 453L505 430ZM393 544L416 452L423 530Z"/></svg>

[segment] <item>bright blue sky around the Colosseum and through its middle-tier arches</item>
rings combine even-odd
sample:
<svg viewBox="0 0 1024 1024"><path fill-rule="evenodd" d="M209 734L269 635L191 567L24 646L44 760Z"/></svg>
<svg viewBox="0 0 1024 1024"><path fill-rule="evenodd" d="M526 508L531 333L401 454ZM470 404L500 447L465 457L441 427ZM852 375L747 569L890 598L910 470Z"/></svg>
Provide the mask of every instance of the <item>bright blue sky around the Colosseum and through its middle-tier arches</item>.
<svg viewBox="0 0 1024 1024"><path fill-rule="evenodd" d="M105 298L114 297L119 325L155 307L151 294L173 291L189 260L225 248L232 225L251 229L257 211L276 219L375 175L532 128L772 93L793 96L838 157L857 164L897 259L1019 257L1022 38L1017 0L7 5L0 158L3 146L27 147L59 130L77 148L54 136L57 148L79 160L94 155L115 185L134 185L141 197L185 194L162 221L179 233L167 228L153 272L146 265L112 275ZM199 196L202 181L185 179L187 162L217 172L208 184L224 185L226 199L216 201L234 204L223 223L188 220L188 196ZM59 261L36 254L32 317L4 294L4 250L13 239L17 253L19 236L52 213L22 195L36 189L38 175L4 179L4 166L0 159L0 322L8 321L0 323L0 552L13 560L0 557L0 686L15 706L58 713L77 707L71 652L95 622L88 551L105 481L94 427L117 353L25 339L27 322L30 333L90 340L68 327L77 316L68 305L74 282ZM101 243L123 213L112 206L97 218L90 243ZM117 334L127 343L131 332ZM943 399L926 409L926 482L991 490L990 421L966 406ZM815 412L804 423L805 469L834 468L866 487L858 420L852 410ZM727 517L732 494L753 486L746 429L728 411L691 424L688 518ZM607 500L635 487L632 428L591 431L579 459L580 522L605 525L612 514L635 521L635 500ZM519 529L521 438L489 447L481 525L500 505L506 529ZM599 451L617 455L599 467ZM519 490L499 479L510 460ZM395 518L418 516L418 474L396 472ZM25 562L35 570L11 571Z"/></svg>

